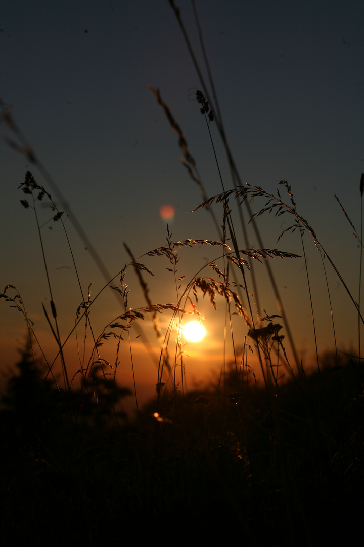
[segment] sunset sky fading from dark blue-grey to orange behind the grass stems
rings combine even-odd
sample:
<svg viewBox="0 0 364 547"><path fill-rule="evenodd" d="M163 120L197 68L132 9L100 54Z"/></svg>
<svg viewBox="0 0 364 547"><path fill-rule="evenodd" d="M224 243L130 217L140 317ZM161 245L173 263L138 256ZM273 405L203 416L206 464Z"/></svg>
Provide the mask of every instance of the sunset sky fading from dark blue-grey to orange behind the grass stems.
<svg viewBox="0 0 364 547"><path fill-rule="evenodd" d="M208 82L192 3L180 0L176 5ZM172 241L218 239L208 211L189 212L202 197L181 164L178 135L148 86L160 90L181 127L208 197L221 193L222 185L195 91L201 89L213 97L213 102L217 97L241 183L259 186L272 194L279 181L288 181L297 211L315 230L354 299L359 298L359 243L335 194L360 232L359 185L364 171L363 3L195 0L195 6L216 95L208 83L207 89L202 89L167 0L13 0L3 5L1 109L11 113L39 163L29 161L5 141L0 143L0 285L16 286L50 362L57 347L42 307L50 313L38 229L34 211L26 210L20 203L25 196L19 185L27 170L64 211L64 226L81 286L87 293L88 284L92 283L91 298L104 287L105 276L73 219L92 242L103 269L111 277L130 263L124 242L135 257L166 244L166 222L160 215L163 205L175 208L175 216L169 220ZM210 124L210 129L224 187L232 189L234 183L216 122ZM19 142L19 137L4 123L0 132L2 137ZM40 165L49 176L44 177ZM287 200L283 187L280 191ZM252 211L259 211L265 201L255 199ZM41 234L61 339L65 340L74 328L82 298L62 225L47 222L52 213L44 203L38 202L41 223L47 223ZM230 200L230 205L240 248L244 248L234 200ZM221 204L214 207L214 212L221 224ZM266 248L302 255L297 231L285 234L277 243L291 220L289 216L273 218L272 214L257 219ZM248 230L249 245L258 246L251 224ZM323 352L333 349L330 302L320 255L308 233L304 241L318 349ZM196 275L217 278L210 267L202 273L200 269L221 255L218 247L180 249L177 276L186 276L180 281L181 290ZM171 265L166 257L143 257L140 261L154 274L144 274L153 304L176 303L175 279L167 270ZM221 268L223 263L220 260L217 264ZM268 315L278 314L264 264L256 266L260 313L264 315L264 309ZM314 338L305 262L276 258L272 268L297 351L308 364L314 353ZM326 275L338 347L357 353L357 312L327 260ZM118 282L116 277L113 283ZM130 290L129 307L145 306L132 267L126 270L125 282ZM15 292L9 294L14 296ZM207 298L202 299L201 293L198 296L206 336L185 347L189 355L184 357L184 366L190 387L206 377L216 380L224 363L225 303L217 298L215 312ZM108 288L98 296L92 311L94 331L99 335L123 309ZM170 318L169 312L159 317L163 335ZM21 314L3 299L0 320L0 366L7 370L16 361L19 347L25 344L26 328ZM242 346L248 328L235 316L232 321L234 342ZM136 385L147 397L154 393L158 345L151 321L146 319L141 326L142 330L130 332ZM80 323L81 354L84 333L85 325ZM140 337L135 339L137 333ZM89 331L87 335L86 353L92 348ZM173 331L172 355L175 337ZM154 357L146 351L142 341L145 339L153 346ZM115 361L115 345L112 350L106 346L105 343L105 359ZM230 339L226 347L228 363ZM64 351L72 376L80 368L74 333ZM119 357L120 382L130 385L127 340ZM58 361L54 367L59 373Z"/></svg>

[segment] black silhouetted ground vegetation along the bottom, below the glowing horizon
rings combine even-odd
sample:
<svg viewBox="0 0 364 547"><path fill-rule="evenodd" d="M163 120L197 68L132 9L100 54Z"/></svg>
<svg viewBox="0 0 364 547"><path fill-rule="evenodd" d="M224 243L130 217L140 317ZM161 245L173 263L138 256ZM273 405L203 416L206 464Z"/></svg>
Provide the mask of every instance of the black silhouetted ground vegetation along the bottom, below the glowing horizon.
<svg viewBox="0 0 364 547"><path fill-rule="evenodd" d="M134 423L121 409L130 392L96 374L83 393L58 392L22 353L1 411L2 545L99 545L130 534L354 541L362 365L327 356L320 374L302 372L269 396L254 381L239 388L234 369L224 386L171 393L159 409L152 400Z"/></svg>

